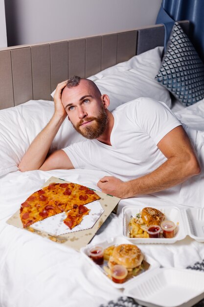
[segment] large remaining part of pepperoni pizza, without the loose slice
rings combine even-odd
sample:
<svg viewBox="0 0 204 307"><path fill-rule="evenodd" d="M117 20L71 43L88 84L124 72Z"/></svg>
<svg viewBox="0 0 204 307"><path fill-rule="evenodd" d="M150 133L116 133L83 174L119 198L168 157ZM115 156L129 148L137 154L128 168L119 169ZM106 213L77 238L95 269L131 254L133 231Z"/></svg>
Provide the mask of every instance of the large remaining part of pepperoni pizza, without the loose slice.
<svg viewBox="0 0 204 307"><path fill-rule="evenodd" d="M80 207L98 199L100 197L86 186L72 182L50 183L30 195L21 205L20 217L23 228L55 214L67 212L75 205Z"/></svg>

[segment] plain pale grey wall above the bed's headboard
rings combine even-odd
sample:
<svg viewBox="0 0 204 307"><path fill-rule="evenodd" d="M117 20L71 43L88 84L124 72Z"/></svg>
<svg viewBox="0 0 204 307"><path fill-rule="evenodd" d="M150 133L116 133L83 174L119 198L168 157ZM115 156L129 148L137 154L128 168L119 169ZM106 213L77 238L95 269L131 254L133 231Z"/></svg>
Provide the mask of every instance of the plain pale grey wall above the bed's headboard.
<svg viewBox="0 0 204 307"><path fill-rule="evenodd" d="M161 0L5 0L8 46L154 25Z"/></svg>

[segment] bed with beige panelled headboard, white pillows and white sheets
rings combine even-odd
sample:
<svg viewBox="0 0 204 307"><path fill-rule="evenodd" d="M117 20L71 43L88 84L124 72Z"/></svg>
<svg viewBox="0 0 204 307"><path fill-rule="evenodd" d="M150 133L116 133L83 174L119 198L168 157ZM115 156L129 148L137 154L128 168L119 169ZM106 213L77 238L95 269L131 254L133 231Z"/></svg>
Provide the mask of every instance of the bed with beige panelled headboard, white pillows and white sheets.
<svg viewBox="0 0 204 307"><path fill-rule="evenodd" d="M189 22L181 21L180 25L188 33ZM117 301L124 297L122 290L98 276L81 253L6 222L21 203L52 176L98 190L97 181L107 175L100 170L25 173L18 170L17 165L26 148L52 116L54 106L50 93L58 82L72 75L95 81L102 92L110 95L110 110L139 96L151 95L175 112L188 126L192 138L196 130L200 130L196 134L199 140L204 138L204 100L183 106L154 80L161 65L163 39L164 27L157 25L0 50L0 307L99 307L114 306L114 302L118 304L116 306L126 306ZM136 82L138 88L133 86ZM145 88L144 82L147 84ZM50 151L80 140L81 136L67 121L56 135ZM201 146L201 153L202 150ZM203 207L200 202L202 191L194 191L186 195L187 206ZM187 192L188 186L183 193ZM185 202L168 195L121 200L117 214L109 215L91 244L122 237L122 208L126 205L183 209ZM174 244L138 246L164 268L199 270L204 267L204 244L190 236ZM137 306L133 302L130 304Z"/></svg>

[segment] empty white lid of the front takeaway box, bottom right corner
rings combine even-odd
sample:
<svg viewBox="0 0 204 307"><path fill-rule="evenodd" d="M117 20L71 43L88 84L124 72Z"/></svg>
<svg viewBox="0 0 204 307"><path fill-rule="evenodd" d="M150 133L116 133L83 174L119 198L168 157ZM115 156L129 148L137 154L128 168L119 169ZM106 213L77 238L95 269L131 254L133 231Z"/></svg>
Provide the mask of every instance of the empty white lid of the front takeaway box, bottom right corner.
<svg viewBox="0 0 204 307"><path fill-rule="evenodd" d="M146 307L191 307L204 298L204 272L159 268L139 275L123 294Z"/></svg>

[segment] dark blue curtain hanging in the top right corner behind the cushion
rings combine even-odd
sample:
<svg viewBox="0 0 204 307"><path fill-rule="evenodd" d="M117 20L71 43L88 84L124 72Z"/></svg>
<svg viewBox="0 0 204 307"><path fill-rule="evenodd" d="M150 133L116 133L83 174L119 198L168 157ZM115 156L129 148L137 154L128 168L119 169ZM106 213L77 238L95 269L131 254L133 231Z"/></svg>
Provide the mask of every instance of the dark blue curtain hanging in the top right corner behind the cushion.
<svg viewBox="0 0 204 307"><path fill-rule="evenodd" d="M204 0L162 0L161 5L175 21L190 21L189 38L204 62Z"/></svg>

